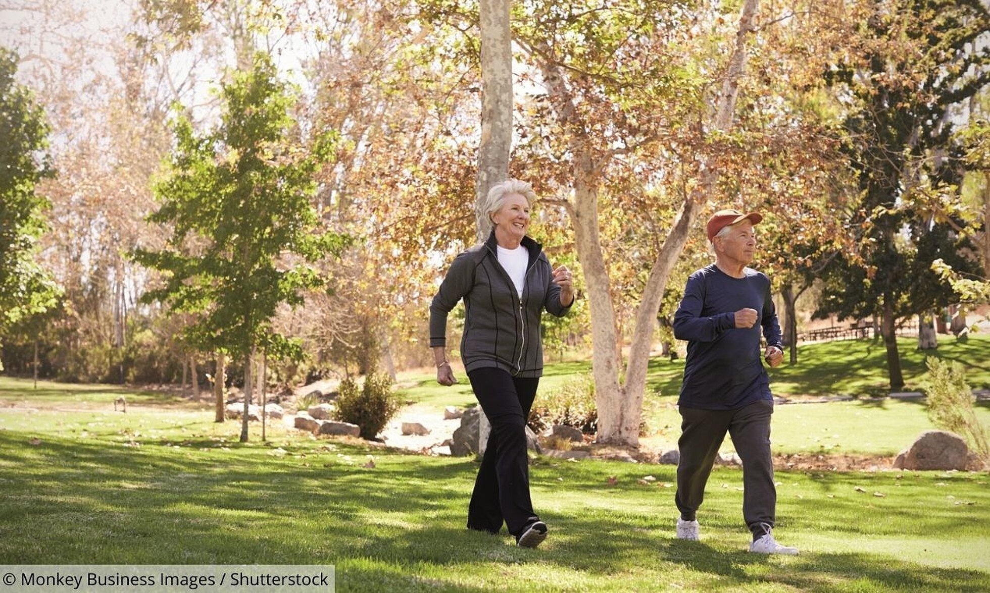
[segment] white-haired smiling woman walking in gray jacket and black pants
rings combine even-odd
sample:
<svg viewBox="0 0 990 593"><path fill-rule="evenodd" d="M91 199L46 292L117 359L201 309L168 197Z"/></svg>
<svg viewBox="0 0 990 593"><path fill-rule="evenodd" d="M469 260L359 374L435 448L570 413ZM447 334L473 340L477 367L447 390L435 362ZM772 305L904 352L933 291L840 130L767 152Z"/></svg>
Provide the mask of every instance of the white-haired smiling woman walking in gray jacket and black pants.
<svg viewBox="0 0 990 593"><path fill-rule="evenodd" d="M546 539L533 510L526 421L544 370L540 318L562 317L574 302L571 273L550 266L526 236L536 194L529 183L503 181L488 192L494 226L483 245L457 255L430 306L430 346L437 381L456 382L446 357L446 316L464 301L460 356L491 434L467 511L467 528L497 534L505 522L522 547Z"/></svg>

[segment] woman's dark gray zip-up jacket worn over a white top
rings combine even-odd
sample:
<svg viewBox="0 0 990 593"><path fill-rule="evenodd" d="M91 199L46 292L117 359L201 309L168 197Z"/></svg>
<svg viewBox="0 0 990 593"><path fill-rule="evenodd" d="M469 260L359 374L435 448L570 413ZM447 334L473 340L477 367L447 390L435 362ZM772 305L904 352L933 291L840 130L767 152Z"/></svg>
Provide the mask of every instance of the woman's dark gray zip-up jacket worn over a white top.
<svg viewBox="0 0 990 593"><path fill-rule="evenodd" d="M560 285L553 281L539 243L523 238L530 261L522 299L498 261L497 245L492 233L487 242L460 253L450 264L430 305L430 346L446 346L446 316L464 299L464 369L495 367L517 377L539 377L544 374L543 310L563 317L570 306L560 304Z"/></svg>

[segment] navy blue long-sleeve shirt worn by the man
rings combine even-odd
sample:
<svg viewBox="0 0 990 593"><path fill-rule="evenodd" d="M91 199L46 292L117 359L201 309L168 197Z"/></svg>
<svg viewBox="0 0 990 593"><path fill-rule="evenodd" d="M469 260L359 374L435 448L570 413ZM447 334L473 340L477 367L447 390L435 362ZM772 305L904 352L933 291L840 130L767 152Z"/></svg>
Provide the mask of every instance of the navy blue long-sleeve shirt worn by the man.
<svg viewBox="0 0 990 593"><path fill-rule="evenodd" d="M748 267L743 273L734 278L713 263L687 280L674 315L674 337L688 341L678 406L738 410L773 399L759 345L762 328L767 345L783 350L770 279ZM736 327L740 309L756 310L751 328Z"/></svg>

